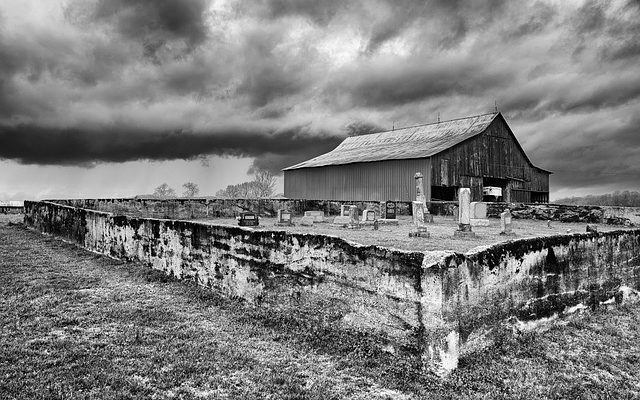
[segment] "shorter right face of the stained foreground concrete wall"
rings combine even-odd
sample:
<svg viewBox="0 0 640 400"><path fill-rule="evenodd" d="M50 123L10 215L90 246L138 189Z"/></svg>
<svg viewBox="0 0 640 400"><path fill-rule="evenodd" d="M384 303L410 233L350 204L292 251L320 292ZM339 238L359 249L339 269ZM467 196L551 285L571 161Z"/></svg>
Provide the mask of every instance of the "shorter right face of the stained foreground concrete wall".
<svg viewBox="0 0 640 400"><path fill-rule="evenodd" d="M522 239L439 262L443 316L461 339L510 315L548 317L640 289L640 230Z"/></svg>

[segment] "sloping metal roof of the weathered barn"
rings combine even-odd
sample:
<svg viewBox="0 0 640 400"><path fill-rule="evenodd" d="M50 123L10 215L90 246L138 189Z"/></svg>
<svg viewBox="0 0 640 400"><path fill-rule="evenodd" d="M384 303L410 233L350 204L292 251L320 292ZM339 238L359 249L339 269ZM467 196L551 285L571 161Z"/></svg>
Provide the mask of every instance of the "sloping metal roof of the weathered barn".
<svg viewBox="0 0 640 400"><path fill-rule="evenodd" d="M329 153L284 170L368 161L423 158L482 133L498 113L411 126L346 138Z"/></svg>

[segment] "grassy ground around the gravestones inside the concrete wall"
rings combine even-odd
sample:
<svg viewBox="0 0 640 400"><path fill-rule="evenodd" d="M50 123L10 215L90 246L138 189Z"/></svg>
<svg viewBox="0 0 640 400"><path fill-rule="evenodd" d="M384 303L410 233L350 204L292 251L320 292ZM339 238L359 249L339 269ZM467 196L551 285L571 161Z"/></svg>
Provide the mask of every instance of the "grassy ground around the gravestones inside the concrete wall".
<svg viewBox="0 0 640 400"><path fill-rule="evenodd" d="M484 247L496 243L505 242L513 239L545 237L554 235L563 235L567 233L585 233L587 224L584 223L563 223L552 222L551 228L548 227L547 221L540 220L513 220L512 229L515 237L505 237L500 235L500 220L489 219L488 226L473 227L476 233L472 238L454 237L454 231L458 229L458 223L453 217L434 216L433 223L426 224L430 233L430 238L413 238L409 237L409 233L415 231L411 217L401 216L398 218L398 225L379 226L376 231L372 225L362 225L360 229L348 229L333 226L332 217L327 217L327 222L314 223L312 226L300 224L301 217L293 218L293 226L276 225L276 218L260 218L260 225L251 229L261 230L280 230L294 233L309 233L317 235L337 236L352 242L360 243L366 246L376 245L382 247L396 248L410 251L432 251L432 250L451 250L460 253L466 253L475 247ZM210 223L212 225L238 226L238 221L233 218L219 219L197 219L199 223ZM630 229L623 226L598 224L601 232L608 232L621 229ZM567 232L568 230L570 232Z"/></svg>

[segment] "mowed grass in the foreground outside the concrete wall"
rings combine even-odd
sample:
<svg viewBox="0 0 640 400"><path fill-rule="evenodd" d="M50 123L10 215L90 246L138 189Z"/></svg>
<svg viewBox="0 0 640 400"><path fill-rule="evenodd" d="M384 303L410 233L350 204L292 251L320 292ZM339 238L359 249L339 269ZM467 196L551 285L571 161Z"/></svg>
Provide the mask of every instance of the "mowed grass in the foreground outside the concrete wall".
<svg viewBox="0 0 640 400"><path fill-rule="evenodd" d="M536 333L497 329L440 380L369 335L227 300L3 216L0 291L0 399L640 397L637 304Z"/></svg>

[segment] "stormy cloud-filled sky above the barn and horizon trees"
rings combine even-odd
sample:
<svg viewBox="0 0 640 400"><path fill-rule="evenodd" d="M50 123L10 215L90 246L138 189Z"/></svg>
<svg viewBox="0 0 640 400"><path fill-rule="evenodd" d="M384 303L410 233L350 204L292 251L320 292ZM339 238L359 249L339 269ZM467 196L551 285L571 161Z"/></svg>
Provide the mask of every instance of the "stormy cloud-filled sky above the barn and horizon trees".
<svg viewBox="0 0 640 400"><path fill-rule="evenodd" d="M4 200L213 195L496 104L552 200L640 190L640 1L0 1Z"/></svg>

